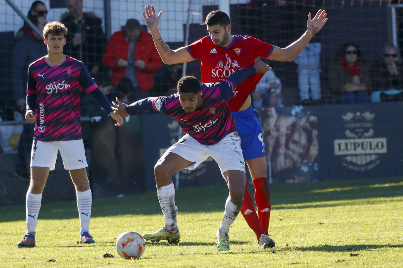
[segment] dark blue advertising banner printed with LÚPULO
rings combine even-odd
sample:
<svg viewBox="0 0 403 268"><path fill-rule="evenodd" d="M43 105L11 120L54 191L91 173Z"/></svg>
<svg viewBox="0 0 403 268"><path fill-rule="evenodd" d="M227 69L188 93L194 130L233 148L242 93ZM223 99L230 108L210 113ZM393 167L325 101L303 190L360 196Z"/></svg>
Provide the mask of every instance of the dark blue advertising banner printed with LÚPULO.
<svg viewBox="0 0 403 268"><path fill-rule="evenodd" d="M402 176L401 102L317 107L323 179Z"/></svg>

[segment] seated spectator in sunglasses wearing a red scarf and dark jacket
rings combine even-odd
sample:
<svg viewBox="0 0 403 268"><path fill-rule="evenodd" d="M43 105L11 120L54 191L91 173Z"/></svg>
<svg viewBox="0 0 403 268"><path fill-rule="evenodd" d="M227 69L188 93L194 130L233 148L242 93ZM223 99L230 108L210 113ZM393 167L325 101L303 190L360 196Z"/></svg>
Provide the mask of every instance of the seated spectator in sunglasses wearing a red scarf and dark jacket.
<svg viewBox="0 0 403 268"><path fill-rule="evenodd" d="M348 42L340 47L336 62L329 69L329 80L337 104L371 102L368 67L356 43Z"/></svg>

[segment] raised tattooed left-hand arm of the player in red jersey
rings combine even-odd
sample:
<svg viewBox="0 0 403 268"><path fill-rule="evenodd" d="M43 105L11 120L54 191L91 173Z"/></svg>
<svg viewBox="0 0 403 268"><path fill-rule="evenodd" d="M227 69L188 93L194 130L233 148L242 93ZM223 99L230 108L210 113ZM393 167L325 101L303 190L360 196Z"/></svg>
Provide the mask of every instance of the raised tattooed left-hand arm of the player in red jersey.
<svg viewBox="0 0 403 268"><path fill-rule="evenodd" d="M143 11L143 17L145 24L154 40L154 45L160 54L162 62L165 64L177 64L193 61L193 57L187 52L186 47L180 47L179 49L172 50L162 39L160 30L158 29L158 24L160 23L162 11L156 15L154 6L147 5L145 11Z"/></svg>

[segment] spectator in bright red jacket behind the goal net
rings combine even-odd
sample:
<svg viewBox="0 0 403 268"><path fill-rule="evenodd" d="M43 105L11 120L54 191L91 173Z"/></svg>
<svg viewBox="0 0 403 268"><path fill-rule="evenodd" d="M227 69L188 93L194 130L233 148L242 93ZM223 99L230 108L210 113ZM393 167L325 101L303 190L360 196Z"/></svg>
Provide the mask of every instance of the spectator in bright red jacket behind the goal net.
<svg viewBox="0 0 403 268"><path fill-rule="evenodd" d="M154 86L153 73L162 67L151 34L144 31L139 21L133 18L127 20L124 30L110 37L103 62L112 71L115 86L120 78L130 78L133 82L131 96L136 98L149 95L148 92Z"/></svg>

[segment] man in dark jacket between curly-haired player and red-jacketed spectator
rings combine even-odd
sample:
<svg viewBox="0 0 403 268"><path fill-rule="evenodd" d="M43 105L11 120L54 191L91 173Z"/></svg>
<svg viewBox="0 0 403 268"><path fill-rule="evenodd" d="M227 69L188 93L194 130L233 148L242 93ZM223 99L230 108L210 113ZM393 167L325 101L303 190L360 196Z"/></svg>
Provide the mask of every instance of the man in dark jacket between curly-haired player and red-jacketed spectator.
<svg viewBox="0 0 403 268"><path fill-rule="evenodd" d="M102 69L106 36L102 20L93 12L83 12L83 0L64 0L70 12L62 15L61 22L69 29L64 53L83 61L93 76Z"/></svg>

